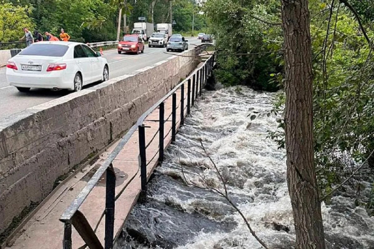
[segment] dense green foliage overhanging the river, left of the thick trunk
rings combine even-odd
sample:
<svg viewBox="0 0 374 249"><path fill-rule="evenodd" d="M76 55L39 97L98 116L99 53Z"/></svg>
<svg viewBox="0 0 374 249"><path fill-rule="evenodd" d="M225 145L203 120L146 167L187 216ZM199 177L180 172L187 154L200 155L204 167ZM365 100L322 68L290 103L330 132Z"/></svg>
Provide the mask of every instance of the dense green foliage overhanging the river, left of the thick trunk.
<svg viewBox="0 0 374 249"><path fill-rule="evenodd" d="M262 53L279 50L282 40L280 28L258 21L253 16L267 20L277 19L274 6L278 1L254 0L208 0L204 12L209 27L216 38L220 53ZM277 38L278 41L274 41ZM270 74L282 72L282 61L278 55L229 55L218 57L219 68L215 77L226 85L244 84L259 90L276 91L279 84Z"/></svg>

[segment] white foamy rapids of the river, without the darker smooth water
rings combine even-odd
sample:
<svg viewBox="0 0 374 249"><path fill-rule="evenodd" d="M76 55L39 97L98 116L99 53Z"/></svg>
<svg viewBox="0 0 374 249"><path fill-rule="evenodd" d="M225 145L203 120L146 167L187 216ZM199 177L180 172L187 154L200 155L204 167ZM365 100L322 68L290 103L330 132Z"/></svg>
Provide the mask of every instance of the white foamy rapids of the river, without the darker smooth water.
<svg viewBox="0 0 374 249"><path fill-rule="evenodd" d="M235 199L233 202L237 203L257 236L269 248L294 248L285 151L278 150L275 141L266 138L268 131L274 131L278 126L276 117L268 115L272 97L271 93L258 93L246 87L239 92L232 87L206 93L192 108L186 125L177 134L176 144L171 145L158 171L184 180L183 166L187 183L200 187L206 187L208 183L208 186L223 190L212 163L196 147L201 139L228 183L229 196ZM253 115L256 116L254 119ZM212 195L209 190L206 192ZM180 249L261 248L240 215L222 199L215 203L207 196L187 199L180 196L176 191L169 191L167 195L156 193L153 198L175 203L188 213L213 209L204 215L218 222L236 221L238 224L231 232L205 233L202 230ZM374 245L374 220L363 208L355 207L351 199L334 197L331 206L322 205L322 213L328 248L356 249ZM282 226L280 231L275 230L274 224Z"/></svg>

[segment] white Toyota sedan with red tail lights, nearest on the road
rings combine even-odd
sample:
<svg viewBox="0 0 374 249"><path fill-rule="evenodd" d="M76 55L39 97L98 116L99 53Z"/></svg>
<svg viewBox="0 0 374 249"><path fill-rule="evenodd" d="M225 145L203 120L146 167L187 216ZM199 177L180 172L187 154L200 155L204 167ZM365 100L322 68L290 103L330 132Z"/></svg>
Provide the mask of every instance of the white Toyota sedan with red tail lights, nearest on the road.
<svg viewBox="0 0 374 249"><path fill-rule="evenodd" d="M109 79L107 59L83 43L40 41L6 64L7 83L21 92L30 88L82 90L83 85Z"/></svg>

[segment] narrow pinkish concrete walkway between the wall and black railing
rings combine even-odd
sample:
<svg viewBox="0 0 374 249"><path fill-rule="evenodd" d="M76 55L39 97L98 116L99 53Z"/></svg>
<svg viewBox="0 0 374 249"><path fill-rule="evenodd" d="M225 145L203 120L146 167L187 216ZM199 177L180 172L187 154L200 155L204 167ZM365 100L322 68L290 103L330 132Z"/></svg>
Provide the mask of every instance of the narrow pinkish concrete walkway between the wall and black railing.
<svg viewBox="0 0 374 249"><path fill-rule="evenodd" d="M191 84L192 85L192 84ZM187 83L184 85L184 114L187 112ZM192 87L191 87L192 90ZM177 92L177 128L180 125L180 90ZM172 112L172 96L165 101L165 119ZM146 144L152 139L159 128L159 122L152 121L159 119L159 109L155 109L145 120L144 125L150 128L145 129ZM171 142L171 117L165 121L165 148ZM101 166L105 158L116 147L118 142L112 144L107 151L99 155L99 159L92 165L87 165L76 172L66 182L60 184L49 198L38 207L28 222L21 227L18 233L7 243L6 248L12 249L61 249L64 233L64 224L59 217L70 205L74 198L83 189L95 171ZM158 163L158 134L147 148L147 173L148 178ZM156 154L156 156L154 156ZM135 175L134 180L129 184L122 195L116 200L114 233L120 234L122 225L131 211L132 206L138 199L140 193L140 169L138 165L139 144L138 132L135 132L128 143L123 147L119 155L114 159L113 166L116 173L116 194L119 193L125 184ZM153 160L151 160L154 157ZM150 161L151 160L151 161ZM87 199L79 210L85 215L93 229L97 225L96 235L104 245L104 223L102 217L105 209L105 174L101 181L93 188ZM104 216L105 217L105 216ZM101 221L100 221L100 218ZM72 233L73 248L79 248L85 243L73 227Z"/></svg>

